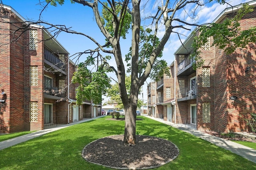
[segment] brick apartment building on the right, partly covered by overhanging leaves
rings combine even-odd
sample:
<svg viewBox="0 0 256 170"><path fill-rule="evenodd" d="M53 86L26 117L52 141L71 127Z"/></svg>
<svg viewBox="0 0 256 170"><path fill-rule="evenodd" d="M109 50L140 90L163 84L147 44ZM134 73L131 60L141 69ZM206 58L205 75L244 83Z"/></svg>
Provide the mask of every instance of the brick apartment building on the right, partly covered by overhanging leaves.
<svg viewBox="0 0 256 170"><path fill-rule="evenodd" d="M256 7L255 0L249 4ZM233 12L240 6L227 8L213 22L220 23L225 18L232 18ZM241 30L256 26L255 16L256 8L242 18ZM227 55L212 46L213 39L210 37L200 49L204 65L193 70L194 61L188 56L192 52L194 36L190 34L174 54L175 61L170 66L171 73L175 72L174 78L170 78L173 84L165 82L164 76L164 80L149 84L150 115L195 127L199 131L250 131L244 119L250 117L250 113L255 113L256 108L255 43L237 48L234 53ZM165 98L169 96L169 90L161 91L165 87L171 87L171 93L175 94L170 100ZM159 95L164 96L163 102L155 100Z"/></svg>

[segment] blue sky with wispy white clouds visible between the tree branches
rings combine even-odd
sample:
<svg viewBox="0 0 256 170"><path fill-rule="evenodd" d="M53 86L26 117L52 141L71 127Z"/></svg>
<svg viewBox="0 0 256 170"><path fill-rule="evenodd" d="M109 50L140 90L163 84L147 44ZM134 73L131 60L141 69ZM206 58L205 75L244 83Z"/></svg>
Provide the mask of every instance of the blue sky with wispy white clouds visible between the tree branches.
<svg viewBox="0 0 256 170"><path fill-rule="evenodd" d="M44 0L41 0L43 2ZM16 12L18 12L23 18L26 20L37 21L39 19L39 14L42 10L42 6L39 5L39 0L2 0L3 4L11 6ZM142 0L142 2L146 2L146 0ZM157 2L149 1L149 2ZM231 5L237 5L244 2L250 2L250 0L227 0ZM142 14L147 16L149 13L152 13L153 7L155 4L146 4L144 8L142 8ZM201 8L200 13L198 15L198 20L196 22L199 23L209 23L212 22L225 8L229 6L220 5L218 3L210 3L207 6ZM190 6L186 8L188 11L190 10ZM184 12L179 14L180 17L183 17L185 20L191 20L190 18L186 18ZM66 27L72 27L73 30L83 32L87 35L90 35L94 39L96 39L100 43L104 43L104 37L100 33L98 26L94 20L94 16L92 10L88 7L82 6L81 4L71 4L70 0L66 0L64 5L57 7L48 6L46 10L42 13L42 20L47 21L52 24L62 24L66 25ZM142 21L143 22L143 21ZM161 28L160 28L161 29ZM193 30L193 28L191 27ZM184 35L189 35L191 31L182 31ZM158 35L161 37L163 31ZM182 41L184 41L186 37L182 37ZM88 49L95 49L96 45L94 45L90 40L86 39L86 37L81 37L74 34L61 33L58 35L57 40L69 51L70 55L73 55L77 52L82 52ZM125 57L125 54L128 52L130 47L130 35L127 36L126 40L122 41L122 56ZM171 35L169 41L166 43L163 51L162 59L165 59L168 64L171 64L174 61L174 52L181 45L178 37L176 35ZM85 56L86 57L86 56ZM81 59L83 60L83 59ZM116 65L114 59L110 61L110 64ZM113 78L113 75L110 75ZM150 82L150 79L147 80ZM146 100L146 86L145 83L143 86L144 91L144 100ZM142 99L142 96L140 96Z"/></svg>

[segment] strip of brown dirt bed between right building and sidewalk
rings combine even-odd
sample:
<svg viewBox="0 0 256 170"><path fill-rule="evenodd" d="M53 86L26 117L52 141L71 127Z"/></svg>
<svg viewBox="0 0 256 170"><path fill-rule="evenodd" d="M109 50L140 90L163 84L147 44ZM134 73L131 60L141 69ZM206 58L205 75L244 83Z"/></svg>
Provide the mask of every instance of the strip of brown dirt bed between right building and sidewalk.
<svg viewBox="0 0 256 170"><path fill-rule="evenodd" d="M214 131L204 131L204 133L208 133L209 135L214 135L216 137L220 137L222 139L227 139L227 140L232 140L232 141L247 141L247 142L256 143L256 139L251 139L251 138L248 138L248 137L242 137L242 136L236 135L236 134L234 134L234 137L231 137L228 134L224 134L224 133L220 133L220 132L214 132Z"/></svg>

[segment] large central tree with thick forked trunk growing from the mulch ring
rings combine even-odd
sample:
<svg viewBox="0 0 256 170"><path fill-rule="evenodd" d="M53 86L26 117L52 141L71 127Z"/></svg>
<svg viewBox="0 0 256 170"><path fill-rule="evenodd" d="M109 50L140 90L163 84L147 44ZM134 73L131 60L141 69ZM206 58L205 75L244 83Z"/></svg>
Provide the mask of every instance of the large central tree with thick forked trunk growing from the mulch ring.
<svg viewBox="0 0 256 170"><path fill-rule="evenodd" d="M86 8L92 9L94 20L98 25L99 32L104 35L107 41L103 45L85 33L73 31L64 27L63 25L58 26L50 24L52 27L57 28L59 31L80 34L90 39L97 45L96 49L90 51L91 55L95 55L95 52L97 51L97 57L93 58L98 59L97 62L103 61L103 65L107 68L105 69L106 71L109 71L110 69L114 70L117 76L120 98L124 105L124 110L126 111L124 129L125 144L135 144L136 108L140 87L150 76L154 66L158 66L158 64L155 65L155 63L158 57L161 56L164 45L169 40L171 33L182 35L182 31L190 30L191 26L201 26L198 25L195 20L186 21L185 18L195 19L198 12L200 12L200 6L204 6L207 2L212 1L213 0L72 0L74 3L78 3L85 6ZM50 2L50 4L56 6L57 3L63 4L64 0L46 0L46 2ZM221 4L225 3L224 0L216 0L216 2ZM141 12L143 11L141 8L147 3L153 3L152 10L150 12L152 15L143 18L143 23L148 23L148 26L146 24L141 25ZM190 11L186 11L186 7L188 6ZM103 12L100 13L102 10ZM184 12L185 16L182 17L184 20L180 18L181 12ZM146 22L148 20L150 21ZM141 27L143 27L143 30L146 31L144 32L145 37L150 37L152 34L150 41L148 41L146 38L143 38L144 35ZM149 27L152 27L152 33L150 32L151 30L147 30ZM130 28L132 33L131 50L128 55L130 57L129 61L131 63L131 84L130 93L128 93L125 84L126 69L121 51L122 41L120 41L120 39L126 38L124 35L129 32ZM162 34L162 37L158 39L157 35L160 31L163 31L164 33ZM223 36L228 33L229 32L223 32ZM146 43L145 46L143 46L140 42L142 39L146 40L144 41ZM141 47L148 50L144 50L145 52L148 52L145 55L145 59L147 57L147 60L142 60L143 55L140 52L143 50L140 50ZM108 55L103 57L99 51L107 53ZM116 66L110 66L108 64L108 59L110 59L110 57L114 57Z"/></svg>

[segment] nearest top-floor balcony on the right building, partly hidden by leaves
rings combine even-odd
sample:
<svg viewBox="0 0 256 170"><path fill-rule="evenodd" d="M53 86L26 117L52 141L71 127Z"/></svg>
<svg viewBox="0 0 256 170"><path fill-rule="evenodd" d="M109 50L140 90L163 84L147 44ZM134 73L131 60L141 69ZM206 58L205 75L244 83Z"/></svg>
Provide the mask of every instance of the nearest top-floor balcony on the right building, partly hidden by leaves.
<svg viewBox="0 0 256 170"><path fill-rule="evenodd" d="M192 68L192 64L195 63L194 59L190 59L189 55L180 63L178 64L178 74L177 76L188 76L196 70Z"/></svg>

